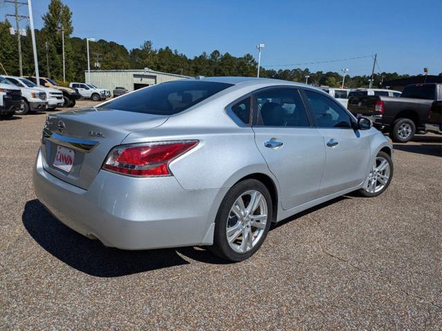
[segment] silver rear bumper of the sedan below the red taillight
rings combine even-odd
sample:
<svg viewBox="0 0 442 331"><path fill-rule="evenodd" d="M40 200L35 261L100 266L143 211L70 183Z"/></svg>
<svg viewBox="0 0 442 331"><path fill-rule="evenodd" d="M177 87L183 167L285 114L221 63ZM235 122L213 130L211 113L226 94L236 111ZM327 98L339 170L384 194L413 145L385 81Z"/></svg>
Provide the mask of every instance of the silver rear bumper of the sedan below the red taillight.
<svg viewBox="0 0 442 331"><path fill-rule="evenodd" d="M120 249L211 245L227 189L185 190L174 177L134 178L99 171L80 189L44 170L33 173L37 198L71 229Z"/></svg>

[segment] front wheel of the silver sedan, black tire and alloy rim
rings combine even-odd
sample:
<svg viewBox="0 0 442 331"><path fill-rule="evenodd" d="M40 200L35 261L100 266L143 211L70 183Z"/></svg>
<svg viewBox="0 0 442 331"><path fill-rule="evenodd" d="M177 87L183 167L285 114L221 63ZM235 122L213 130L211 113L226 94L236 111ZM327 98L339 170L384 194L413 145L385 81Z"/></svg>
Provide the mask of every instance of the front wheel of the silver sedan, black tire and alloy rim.
<svg viewBox="0 0 442 331"><path fill-rule="evenodd" d="M387 166L385 167L385 169L380 170L381 169L380 166L381 166L383 160L385 160L385 162L387 162ZM376 164L376 166L375 166L375 164ZM375 169L378 169L377 172L375 171ZM365 182L364 182L364 187L362 187L362 189L359 190L360 195L365 196L367 198L373 198L375 196L379 196L380 194L382 194L389 187L390 182L392 182L393 172L394 172L394 169L393 169L392 158L387 153L380 151L378 153L378 155L376 155L376 159L374 160L373 164L371 165L369 176L367 176L367 178L365 179ZM376 176L377 176L377 178L376 178ZM387 178L387 179L385 179L385 178ZM374 190L368 189L370 181L373 182L374 179L376 179L375 187L374 187L375 189ZM380 182L380 180L383 180L385 183ZM378 187L377 187L378 183L380 185L383 185L383 187L379 186L379 189L378 189Z"/></svg>

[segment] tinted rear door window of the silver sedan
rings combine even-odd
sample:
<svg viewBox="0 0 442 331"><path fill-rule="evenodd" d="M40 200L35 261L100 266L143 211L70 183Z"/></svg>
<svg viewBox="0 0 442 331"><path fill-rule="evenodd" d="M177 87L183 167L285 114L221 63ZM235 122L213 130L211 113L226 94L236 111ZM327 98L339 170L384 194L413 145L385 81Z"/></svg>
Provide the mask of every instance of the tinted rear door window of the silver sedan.
<svg viewBox="0 0 442 331"><path fill-rule="evenodd" d="M255 95L258 125L310 126L300 93L294 88L277 88Z"/></svg>

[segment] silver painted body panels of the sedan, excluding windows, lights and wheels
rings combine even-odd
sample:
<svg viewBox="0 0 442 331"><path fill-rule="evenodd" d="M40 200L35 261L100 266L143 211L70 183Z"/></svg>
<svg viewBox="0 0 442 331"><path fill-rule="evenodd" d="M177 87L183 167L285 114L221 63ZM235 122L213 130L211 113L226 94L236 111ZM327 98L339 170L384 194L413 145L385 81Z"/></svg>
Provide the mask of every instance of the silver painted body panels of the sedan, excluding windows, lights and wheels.
<svg viewBox="0 0 442 331"><path fill-rule="evenodd" d="M64 136L99 144L90 153L76 152L71 172L64 173L51 165L56 143L43 137L34 173L37 197L63 223L109 246L210 245L221 200L241 178L259 173L273 181L278 221L360 189L378 151L392 150L374 128L252 128L238 125L226 111L259 88L317 88L249 77L204 79L235 85L169 117L94 108L51 115L50 132L62 120ZM89 137L89 131L105 138ZM100 170L114 146L166 140L199 140L169 164L172 177L131 178ZM327 146L331 140L338 144ZM266 147L270 141L279 146Z"/></svg>

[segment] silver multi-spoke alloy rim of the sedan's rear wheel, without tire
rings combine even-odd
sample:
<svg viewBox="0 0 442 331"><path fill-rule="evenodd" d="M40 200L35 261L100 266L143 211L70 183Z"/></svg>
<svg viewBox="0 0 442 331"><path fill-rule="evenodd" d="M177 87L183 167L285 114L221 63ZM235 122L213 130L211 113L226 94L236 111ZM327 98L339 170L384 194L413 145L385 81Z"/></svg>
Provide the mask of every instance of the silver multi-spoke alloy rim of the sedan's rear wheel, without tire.
<svg viewBox="0 0 442 331"><path fill-rule="evenodd" d="M238 253L249 252L266 229L267 202L257 190L246 191L235 200L225 228L230 247Z"/></svg>

